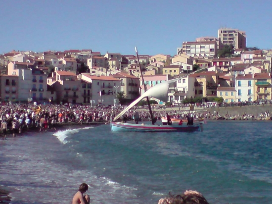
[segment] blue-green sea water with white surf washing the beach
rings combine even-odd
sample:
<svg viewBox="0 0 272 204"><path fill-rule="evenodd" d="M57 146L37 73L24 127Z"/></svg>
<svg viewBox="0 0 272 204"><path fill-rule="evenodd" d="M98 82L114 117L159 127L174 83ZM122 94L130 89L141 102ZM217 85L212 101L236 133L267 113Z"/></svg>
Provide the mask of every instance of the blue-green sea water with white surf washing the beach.
<svg viewBox="0 0 272 204"><path fill-rule="evenodd" d="M157 204L185 190L210 204L272 204L272 123L211 121L193 133L101 125L0 141L12 204L70 204L83 182L95 204Z"/></svg>

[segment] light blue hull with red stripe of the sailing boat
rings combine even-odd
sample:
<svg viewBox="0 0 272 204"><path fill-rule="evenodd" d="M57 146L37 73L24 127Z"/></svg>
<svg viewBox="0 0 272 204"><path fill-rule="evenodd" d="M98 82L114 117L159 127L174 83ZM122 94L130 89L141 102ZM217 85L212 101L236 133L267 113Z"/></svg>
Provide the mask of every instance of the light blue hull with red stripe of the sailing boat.
<svg viewBox="0 0 272 204"><path fill-rule="evenodd" d="M201 129L201 125L141 125L121 122L110 123L112 131L123 132L194 132Z"/></svg>

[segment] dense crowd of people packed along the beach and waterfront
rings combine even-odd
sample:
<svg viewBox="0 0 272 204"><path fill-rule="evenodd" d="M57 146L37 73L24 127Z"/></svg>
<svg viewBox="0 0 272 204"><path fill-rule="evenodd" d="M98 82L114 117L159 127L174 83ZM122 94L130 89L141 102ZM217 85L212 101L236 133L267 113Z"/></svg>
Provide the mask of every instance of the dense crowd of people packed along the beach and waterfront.
<svg viewBox="0 0 272 204"><path fill-rule="evenodd" d="M268 102L264 102L267 104ZM270 103L270 102L269 102ZM259 103L258 103L259 104ZM195 104L201 106L201 104ZM39 109L37 108L39 107ZM1 103L0 106L0 127L2 139L5 139L7 134L20 134L28 129L37 129L38 131L46 131L47 129L56 129L56 124L60 123L93 123L93 122L107 122L110 118L117 116L126 106L91 106L91 105L72 105L65 104L46 104L34 105L32 103ZM258 115L244 113L242 115L220 115L218 112L210 112L207 110L197 111L183 111L166 110L165 108L158 108L152 106L153 116L156 120L161 117L166 117L168 113L171 118L185 119L189 114L190 117L207 118L207 119L267 119L271 118L269 111L261 112ZM168 108L169 109L169 108ZM144 107L134 106L127 111L122 117L123 121L147 121L151 120L148 109Z"/></svg>

